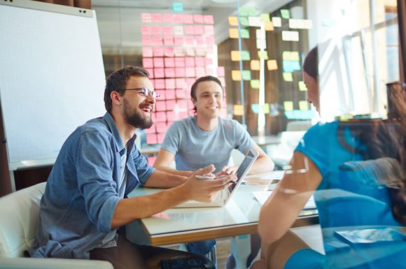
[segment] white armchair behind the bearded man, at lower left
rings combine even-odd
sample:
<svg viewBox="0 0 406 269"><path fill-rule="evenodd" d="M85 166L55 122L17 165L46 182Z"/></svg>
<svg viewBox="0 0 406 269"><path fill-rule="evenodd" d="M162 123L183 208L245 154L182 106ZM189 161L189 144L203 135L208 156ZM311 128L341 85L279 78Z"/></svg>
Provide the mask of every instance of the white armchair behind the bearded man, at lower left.
<svg viewBox="0 0 406 269"><path fill-rule="evenodd" d="M23 258L34 242L45 184L0 198L0 269L113 269L107 261Z"/></svg>

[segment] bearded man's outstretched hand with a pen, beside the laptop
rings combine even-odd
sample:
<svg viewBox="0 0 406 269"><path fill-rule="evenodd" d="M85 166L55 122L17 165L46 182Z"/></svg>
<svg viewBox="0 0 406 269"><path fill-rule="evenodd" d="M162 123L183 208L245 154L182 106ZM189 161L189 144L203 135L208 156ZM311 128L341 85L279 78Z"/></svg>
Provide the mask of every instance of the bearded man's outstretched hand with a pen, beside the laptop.
<svg viewBox="0 0 406 269"><path fill-rule="evenodd" d="M225 177L201 180L196 175L210 175L215 170L213 165L196 170L188 180L184 183L184 187L188 189L190 200L209 203L214 201L218 191L229 187L231 182L237 180L235 175L225 175ZM211 174L213 175L213 174Z"/></svg>

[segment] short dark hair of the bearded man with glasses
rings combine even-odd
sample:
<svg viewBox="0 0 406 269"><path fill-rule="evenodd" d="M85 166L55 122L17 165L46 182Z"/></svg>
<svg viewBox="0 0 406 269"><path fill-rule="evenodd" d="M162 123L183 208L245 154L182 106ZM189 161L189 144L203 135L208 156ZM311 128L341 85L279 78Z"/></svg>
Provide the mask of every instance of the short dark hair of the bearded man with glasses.
<svg viewBox="0 0 406 269"><path fill-rule="evenodd" d="M149 77L148 71L139 66L127 66L115 71L109 75L106 79L106 88L104 89L104 107L108 112L111 111L111 98L110 94L113 91L118 92L120 96L123 96L127 81L130 77Z"/></svg>

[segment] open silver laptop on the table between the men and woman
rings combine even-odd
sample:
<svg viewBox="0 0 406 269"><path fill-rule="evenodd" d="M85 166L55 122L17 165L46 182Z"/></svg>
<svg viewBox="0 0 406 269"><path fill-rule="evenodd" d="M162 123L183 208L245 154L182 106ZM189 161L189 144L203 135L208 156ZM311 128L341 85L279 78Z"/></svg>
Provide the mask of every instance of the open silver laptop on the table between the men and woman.
<svg viewBox="0 0 406 269"><path fill-rule="evenodd" d="M230 185L230 187L223 189L217 194L217 197L214 201L210 203L204 203L199 201L188 201L186 203L181 203L176 205L174 208L211 208L211 207L220 207L226 205L233 194L237 191L239 185L244 180L246 174L253 166L253 163L258 158L258 152L251 149L246 154L244 160L241 162L239 168L237 169L237 181ZM142 190L142 191L141 191ZM137 196L155 194L162 189L153 189L153 188L141 188L137 191Z"/></svg>

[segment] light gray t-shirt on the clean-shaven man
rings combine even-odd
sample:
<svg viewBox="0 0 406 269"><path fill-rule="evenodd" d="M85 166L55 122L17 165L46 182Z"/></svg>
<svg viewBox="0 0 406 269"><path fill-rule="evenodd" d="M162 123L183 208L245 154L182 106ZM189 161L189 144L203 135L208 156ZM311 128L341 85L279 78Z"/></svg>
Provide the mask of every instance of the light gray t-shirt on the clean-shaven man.
<svg viewBox="0 0 406 269"><path fill-rule="evenodd" d="M213 163L217 173L228 165L233 149L245 154L254 145L246 129L234 119L219 117L216 129L202 131L196 117L188 117L169 127L161 148L175 155L178 170L196 170Z"/></svg>

